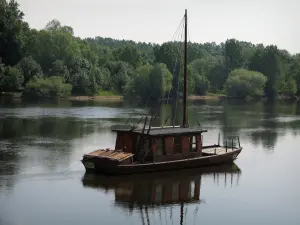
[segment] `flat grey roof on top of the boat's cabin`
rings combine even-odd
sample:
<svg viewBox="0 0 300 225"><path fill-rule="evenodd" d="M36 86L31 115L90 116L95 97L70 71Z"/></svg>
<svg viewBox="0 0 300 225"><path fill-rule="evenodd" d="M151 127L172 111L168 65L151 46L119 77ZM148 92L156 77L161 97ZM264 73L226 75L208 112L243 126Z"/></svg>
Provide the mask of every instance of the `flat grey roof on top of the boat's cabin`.
<svg viewBox="0 0 300 225"><path fill-rule="evenodd" d="M142 130L134 130L135 133L142 133ZM148 132L145 129L144 133ZM200 128L185 128L185 127L167 127L167 128L152 128L150 130L149 135L153 136L162 136L162 135L177 135L177 134L196 134L196 133L203 133L207 132L207 130L203 130Z"/></svg>

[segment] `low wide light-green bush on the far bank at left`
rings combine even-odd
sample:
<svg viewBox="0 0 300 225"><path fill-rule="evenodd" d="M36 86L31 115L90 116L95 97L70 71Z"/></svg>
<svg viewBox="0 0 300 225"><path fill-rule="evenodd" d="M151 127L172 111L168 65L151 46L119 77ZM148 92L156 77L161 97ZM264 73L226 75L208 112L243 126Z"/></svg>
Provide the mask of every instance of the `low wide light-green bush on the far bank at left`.
<svg viewBox="0 0 300 225"><path fill-rule="evenodd" d="M26 85L26 93L31 97L66 97L71 94L72 86L62 77L34 78Z"/></svg>

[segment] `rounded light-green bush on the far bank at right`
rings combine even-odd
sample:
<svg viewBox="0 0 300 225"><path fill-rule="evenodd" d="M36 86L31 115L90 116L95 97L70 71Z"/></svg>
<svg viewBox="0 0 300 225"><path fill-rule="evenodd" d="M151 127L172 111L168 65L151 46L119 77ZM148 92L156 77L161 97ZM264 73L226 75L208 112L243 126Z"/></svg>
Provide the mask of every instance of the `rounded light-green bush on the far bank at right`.
<svg viewBox="0 0 300 225"><path fill-rule="evenodd" d="M259 98L264 94L267 78L255 71L235 69L225 83L225 93L234 98Z"/></svg>

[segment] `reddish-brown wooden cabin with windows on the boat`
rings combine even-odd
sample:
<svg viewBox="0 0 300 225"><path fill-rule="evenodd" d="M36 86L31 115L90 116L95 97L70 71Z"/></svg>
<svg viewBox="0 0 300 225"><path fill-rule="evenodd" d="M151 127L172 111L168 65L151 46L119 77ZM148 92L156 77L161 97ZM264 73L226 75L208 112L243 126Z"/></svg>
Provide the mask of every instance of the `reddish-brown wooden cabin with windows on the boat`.
<svg viewBox="0 0 300 225"><path fill-rule="evenodd" d="M112 129L117 133L115 149L134 154L135 162L162 162L202 155L202 133L206 130L184 127Z"/></svg>

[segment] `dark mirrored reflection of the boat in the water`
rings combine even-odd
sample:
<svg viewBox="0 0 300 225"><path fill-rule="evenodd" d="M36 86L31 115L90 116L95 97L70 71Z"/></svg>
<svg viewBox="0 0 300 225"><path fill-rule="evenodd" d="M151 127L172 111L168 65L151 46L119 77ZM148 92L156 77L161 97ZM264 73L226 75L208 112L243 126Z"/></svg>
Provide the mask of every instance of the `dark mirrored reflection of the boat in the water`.
<svg viewBox="0 0 300 225"><path fill-rule="evenodd" d="M148 208L180 205L180 220L183 219L184 204L199 204L201 177L210 175L215 182L224 178L225 185L237 185L241 170L236 164L225 164L198 169L156 172L136 175L105 176L85 173L84 187L114 191L117 206L129 209L143 209L147 221ZM144 224L144 221L143 221Z"/></svg>

